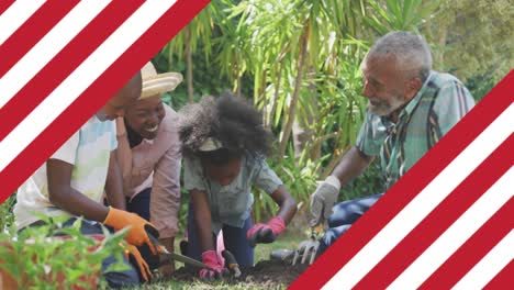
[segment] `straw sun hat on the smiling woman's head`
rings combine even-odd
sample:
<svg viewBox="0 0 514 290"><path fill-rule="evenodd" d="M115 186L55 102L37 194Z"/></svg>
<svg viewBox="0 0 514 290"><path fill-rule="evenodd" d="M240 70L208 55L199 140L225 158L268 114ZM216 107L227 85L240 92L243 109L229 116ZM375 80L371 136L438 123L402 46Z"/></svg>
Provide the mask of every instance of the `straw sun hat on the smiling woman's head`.
<svg viewBox="0 0 514 290"><path fill-rule="evenodd" d="M179 72L157 74L152 62L148 62L141 69L141 77L143 79L143 90L139 100L172 91L183 79Z"/></svg>

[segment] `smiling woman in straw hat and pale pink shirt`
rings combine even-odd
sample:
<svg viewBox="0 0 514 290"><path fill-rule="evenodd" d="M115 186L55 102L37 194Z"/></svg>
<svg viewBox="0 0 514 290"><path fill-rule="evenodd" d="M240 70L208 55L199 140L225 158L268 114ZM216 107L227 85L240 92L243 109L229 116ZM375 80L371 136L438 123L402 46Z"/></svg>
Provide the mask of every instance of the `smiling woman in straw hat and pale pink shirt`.
<svg viewBox="0 0 514 290"><path fill-rule="evenodd" d="M182 75L157 74L152 63L141 72L139 99L126 109L123 118L116 119L118 160L127 211L152 221L161 244L172 252L180 211L181 153L178 115L163 102L161 94L175 90ZM172 264L160 268L165 276L174 269Z"/></svg>

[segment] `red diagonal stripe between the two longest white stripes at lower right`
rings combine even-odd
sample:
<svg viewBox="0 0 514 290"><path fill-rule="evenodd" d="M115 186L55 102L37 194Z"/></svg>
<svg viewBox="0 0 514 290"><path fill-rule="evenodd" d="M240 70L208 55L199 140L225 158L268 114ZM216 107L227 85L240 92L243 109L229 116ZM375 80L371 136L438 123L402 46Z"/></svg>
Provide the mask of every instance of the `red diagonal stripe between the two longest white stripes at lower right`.
<svg viewBox="0 0 514 290"><path fill-rule="evenodd" d="M356 285L355 289L382 289L393 282L511 168L514 161L514 155L510 154L511 152L514 152L514 135L500 145L488 159L414 227Z"/></svg>

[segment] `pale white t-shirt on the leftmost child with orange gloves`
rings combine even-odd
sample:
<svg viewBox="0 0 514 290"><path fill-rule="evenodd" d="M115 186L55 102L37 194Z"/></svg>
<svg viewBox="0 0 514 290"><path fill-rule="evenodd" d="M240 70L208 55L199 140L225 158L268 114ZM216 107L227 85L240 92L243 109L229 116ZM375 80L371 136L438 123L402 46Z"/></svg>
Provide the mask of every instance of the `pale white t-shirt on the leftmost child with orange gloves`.
<svg viewBox="0 0 514 290"><path fill-rule="evenodd" d="M101 122L92 116L51 159L74 165L71 187L89 199L101 202L109 170L109 157L118 146L114 121ZM48 200L48 180L44 163L18 190L14 216L18 228L46 216L71 216Z"/></svg>

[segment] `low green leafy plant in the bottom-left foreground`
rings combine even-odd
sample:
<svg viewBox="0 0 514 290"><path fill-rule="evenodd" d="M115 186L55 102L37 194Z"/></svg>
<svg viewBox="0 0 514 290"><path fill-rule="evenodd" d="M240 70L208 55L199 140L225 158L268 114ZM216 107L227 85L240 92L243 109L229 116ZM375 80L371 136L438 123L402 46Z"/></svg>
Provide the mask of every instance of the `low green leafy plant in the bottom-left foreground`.
<svg viewBox="0 0 514 290"><path fill-rule="evenodd" d="M114 255L122 260L126 231L110 234L104 228L99 241L80 233L81 220L62 228L67 217L42 219L47 223L27 227L16 237L0 234L0 269L8 272L20 289L90 289L96 286L102 260ZM57 232L66 237L54 236ZM107 271L126 269L122 263Z"/></svg>

